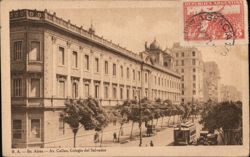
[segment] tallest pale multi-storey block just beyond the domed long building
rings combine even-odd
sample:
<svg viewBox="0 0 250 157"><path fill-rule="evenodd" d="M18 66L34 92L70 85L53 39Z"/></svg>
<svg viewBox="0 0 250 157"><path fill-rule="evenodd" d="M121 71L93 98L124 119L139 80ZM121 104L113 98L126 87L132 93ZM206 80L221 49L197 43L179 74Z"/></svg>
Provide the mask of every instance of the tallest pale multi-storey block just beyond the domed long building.
<svg viewBox="0 0 250 157"><path fill-rule="evenodd" d="M175 70L181 75L181 101L203 102L204 64L201 52L195 47L182 47L174 43L171 48L175 57Z"/></svg>

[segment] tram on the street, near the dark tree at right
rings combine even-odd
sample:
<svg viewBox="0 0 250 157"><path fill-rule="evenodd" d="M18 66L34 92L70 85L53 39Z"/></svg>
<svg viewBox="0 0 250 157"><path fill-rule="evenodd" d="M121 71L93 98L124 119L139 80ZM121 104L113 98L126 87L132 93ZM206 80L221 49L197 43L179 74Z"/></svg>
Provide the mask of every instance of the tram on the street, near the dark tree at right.
<svg viewBox="0 0 250 157"><path fill-rule="evenodd" d="M196 126L192 122L174 127L174 145L189 145L195 142Z"/></svg>

